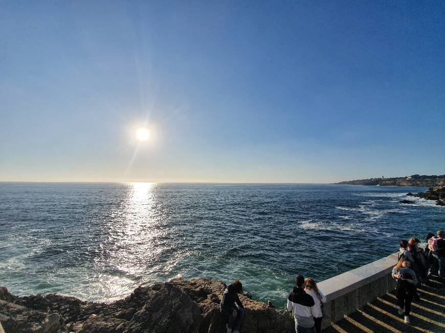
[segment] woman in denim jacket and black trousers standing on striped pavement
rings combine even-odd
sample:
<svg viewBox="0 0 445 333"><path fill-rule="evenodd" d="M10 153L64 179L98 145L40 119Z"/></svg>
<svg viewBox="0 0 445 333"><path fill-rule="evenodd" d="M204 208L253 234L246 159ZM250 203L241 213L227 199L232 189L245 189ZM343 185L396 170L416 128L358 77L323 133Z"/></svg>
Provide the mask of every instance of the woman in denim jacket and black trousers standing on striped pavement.
<svg viewBox="0 0 445 333"><path fill-rule="evenodd" d="M410 323L409 315L411 302L416 293L416 273L410 268L411 261L402 256L392 269L392 277L396 280L396 297L398 301L398 314L405 315L405 324Z"/></svg>

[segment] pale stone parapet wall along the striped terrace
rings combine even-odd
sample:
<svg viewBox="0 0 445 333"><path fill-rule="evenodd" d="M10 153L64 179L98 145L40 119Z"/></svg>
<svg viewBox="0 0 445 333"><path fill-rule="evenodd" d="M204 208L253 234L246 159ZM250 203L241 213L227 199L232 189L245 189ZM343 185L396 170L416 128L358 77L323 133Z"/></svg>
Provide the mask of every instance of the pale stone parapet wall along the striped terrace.
<svg viewBox="0 0 445 333"><path fill-rule="evenodd" d="M337 322L367 302L394 290L395 281L391 276L392 268L397 264L397 253L356 268L352 271L331 277L317 283L326 295L326 312L330 319L323 320L323 328L330 322Z"/></svg>

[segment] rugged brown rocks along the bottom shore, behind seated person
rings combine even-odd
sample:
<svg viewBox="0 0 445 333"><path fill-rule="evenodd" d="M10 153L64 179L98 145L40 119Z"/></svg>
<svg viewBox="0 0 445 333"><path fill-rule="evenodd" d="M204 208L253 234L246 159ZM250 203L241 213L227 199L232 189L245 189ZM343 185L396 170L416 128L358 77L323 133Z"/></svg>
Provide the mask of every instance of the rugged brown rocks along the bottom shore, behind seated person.
<svg viewBox="0 0 445 333"><path fill-rule="evenodd" d="M226 284L212 279L173 279L138 287L112 303L86 302L58 294L14 296L0 287L0 322L6 332L225 333L219 303ZM243 332L295 331L285 310L240 295Z"/></svg>

